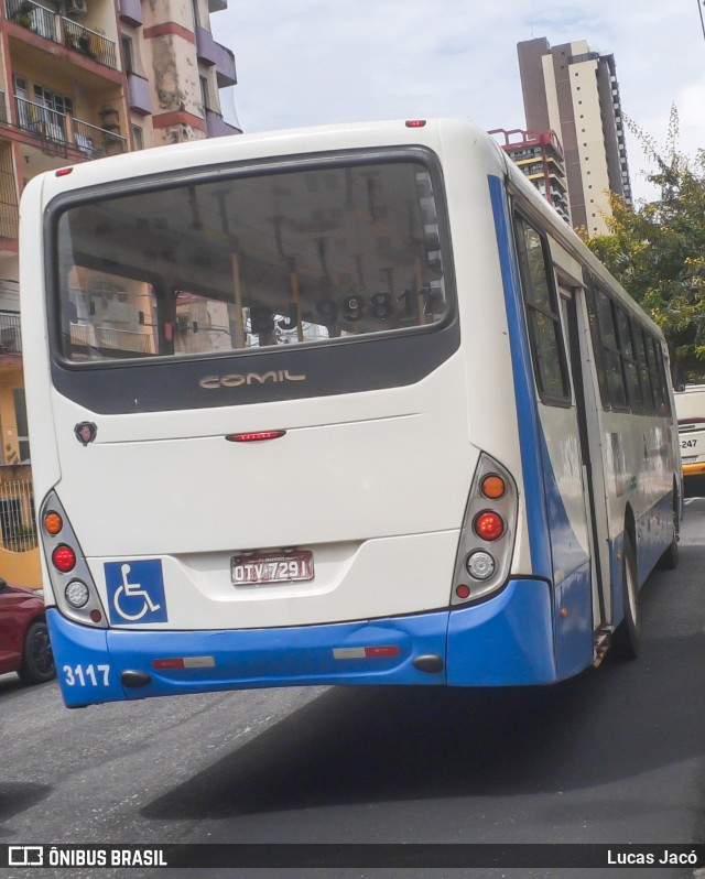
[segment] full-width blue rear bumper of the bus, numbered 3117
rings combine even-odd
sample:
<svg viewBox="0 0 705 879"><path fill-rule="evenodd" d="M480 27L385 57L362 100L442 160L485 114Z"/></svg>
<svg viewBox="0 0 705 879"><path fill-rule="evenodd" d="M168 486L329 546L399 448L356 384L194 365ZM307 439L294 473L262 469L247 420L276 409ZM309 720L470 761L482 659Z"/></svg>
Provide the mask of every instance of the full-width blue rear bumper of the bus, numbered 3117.
<svg viewBox="0 0 705 879"><path fill-rule="evenodd" d="M46 616L64 702L78 707L270 686L551 683L551 605L545 582L512 580L475 607L328 626L126 631Z"/></svg>

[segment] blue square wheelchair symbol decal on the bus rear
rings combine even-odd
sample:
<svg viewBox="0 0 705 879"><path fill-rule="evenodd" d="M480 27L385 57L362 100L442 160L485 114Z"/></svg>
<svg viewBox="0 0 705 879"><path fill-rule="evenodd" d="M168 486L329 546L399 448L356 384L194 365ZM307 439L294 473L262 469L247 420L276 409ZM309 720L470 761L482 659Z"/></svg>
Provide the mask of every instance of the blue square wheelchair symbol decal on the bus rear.
<svg viewBox="0 0 705 879"><path fill-rule="evenodd" d="M106 562L110 622L166 622L164 577L159 558Z"/></svg>

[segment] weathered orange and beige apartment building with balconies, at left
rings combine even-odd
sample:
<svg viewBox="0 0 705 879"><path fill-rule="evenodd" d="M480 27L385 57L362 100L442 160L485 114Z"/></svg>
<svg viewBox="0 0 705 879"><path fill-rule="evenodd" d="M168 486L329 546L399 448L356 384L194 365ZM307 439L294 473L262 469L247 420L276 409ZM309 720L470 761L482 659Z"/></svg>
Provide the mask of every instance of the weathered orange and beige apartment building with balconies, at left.
<svg viewBox="0 0 705 879"><path fill-rule="evenodd" d="M210 32L210 13L226 8L227 0L0 2L0 549L15 549L32 528L31 502L8 487L30 476L22 189L62 165L239 132L220 110L220 89L237 82L235 57Z"/></svg>

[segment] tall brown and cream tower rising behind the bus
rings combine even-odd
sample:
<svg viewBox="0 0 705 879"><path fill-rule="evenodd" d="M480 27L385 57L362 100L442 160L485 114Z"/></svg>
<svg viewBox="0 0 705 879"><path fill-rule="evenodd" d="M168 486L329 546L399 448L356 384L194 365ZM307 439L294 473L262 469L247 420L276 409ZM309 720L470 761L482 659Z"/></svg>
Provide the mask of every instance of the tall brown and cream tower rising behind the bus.
<svg viewBox="0 0 705 879"><path fill-rule="evenodd" d="M606 191L631 204L615 56L592 52L583 40L552 48L539 37L517 50L527 128L556 132L573 225L601 235L603 214L610 214Z"/></svg>

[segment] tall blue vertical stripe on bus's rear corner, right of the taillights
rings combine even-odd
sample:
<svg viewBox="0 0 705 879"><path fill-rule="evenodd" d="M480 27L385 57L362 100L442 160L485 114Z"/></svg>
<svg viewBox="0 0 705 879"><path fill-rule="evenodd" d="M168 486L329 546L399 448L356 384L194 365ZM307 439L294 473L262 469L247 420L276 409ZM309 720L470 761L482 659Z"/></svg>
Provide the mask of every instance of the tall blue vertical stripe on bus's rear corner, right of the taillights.
<svg viewBox="0 0 705 879"><path fill-rule="evenodd" d="M499 248L499 261L505 290L505 304L511 344L511 361L514 378L514 397L519 421L521 466L525 492L525 507L532 571L538 576L552 578L549 522L545 510L541 448L538 437L541 424L536 413L535 391L529 336L521 299L521 286L514 260L511 226L505 185L499 177L488 175L489 192L495 216L495 230Z"/></svg>

